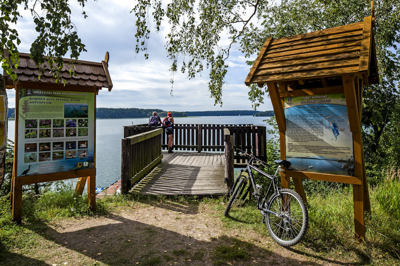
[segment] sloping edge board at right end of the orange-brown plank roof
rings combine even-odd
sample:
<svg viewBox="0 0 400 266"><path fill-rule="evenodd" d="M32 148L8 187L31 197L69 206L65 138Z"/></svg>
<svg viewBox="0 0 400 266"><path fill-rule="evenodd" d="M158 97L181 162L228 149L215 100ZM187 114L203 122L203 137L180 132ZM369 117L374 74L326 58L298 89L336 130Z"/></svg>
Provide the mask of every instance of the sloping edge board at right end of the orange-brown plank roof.
<svg viewBox="0 0 400 266"><path fill-rule="evenodd" d="M364 18L363 28L362 28L362 40L361 40L361 51L359 60L359 71L367 71L368 77L370 76L370 62L371 62L371 45L372 45L372 17Z"/></svg>

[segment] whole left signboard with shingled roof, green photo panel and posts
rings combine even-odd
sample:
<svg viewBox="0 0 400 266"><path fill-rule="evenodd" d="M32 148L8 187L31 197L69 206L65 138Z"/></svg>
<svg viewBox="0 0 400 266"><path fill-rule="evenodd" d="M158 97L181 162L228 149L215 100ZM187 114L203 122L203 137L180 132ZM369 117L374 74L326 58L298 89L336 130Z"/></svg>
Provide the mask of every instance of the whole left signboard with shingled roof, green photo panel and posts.
<svg viewBox="0 0 400 266"><path fill-rule="evenodd" d="M80 178L77 189L82 193L88 180L88 202L95 209L96 95L102 87L111 90L112 83L106 61L78 63L74 77L64 67L65 85L60 85L50 71L39 81L37 70L31 69L36 68L33 61L20 54L18 83L6 79L8 88L13 85L16 90L14 221L21 222L22 186L26 184Z"/></svg>

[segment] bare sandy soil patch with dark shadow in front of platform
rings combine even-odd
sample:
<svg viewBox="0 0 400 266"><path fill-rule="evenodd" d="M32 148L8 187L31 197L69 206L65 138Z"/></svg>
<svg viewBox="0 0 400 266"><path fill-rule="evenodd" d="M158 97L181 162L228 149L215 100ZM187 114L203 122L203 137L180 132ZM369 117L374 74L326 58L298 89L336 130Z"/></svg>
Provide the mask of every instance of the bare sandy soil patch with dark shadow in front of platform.
<svg viewBox="0 0 400 266"><path fill-rule="evenodd" d="M38 229L40 243L10 254L29 265L357 264L302 244L285 249L268 234L228 229L223 219L203 203L132 203L106 216L55 221Z"/></svg>

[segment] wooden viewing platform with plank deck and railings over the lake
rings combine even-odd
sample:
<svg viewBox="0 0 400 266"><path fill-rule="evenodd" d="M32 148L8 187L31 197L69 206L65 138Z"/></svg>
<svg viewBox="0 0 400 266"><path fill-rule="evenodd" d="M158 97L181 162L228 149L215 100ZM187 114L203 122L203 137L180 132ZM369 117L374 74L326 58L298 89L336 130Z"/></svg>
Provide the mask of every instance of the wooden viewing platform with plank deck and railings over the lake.
<svg viewBox="0 0 400 266"><path fill-rule="evenodd" d="M264 159L265 138L266 129L262 126L175 124L175 152L169 154L162 151L168 142L162 129L126 126L121 140L121 192L227 194L234 179L234 166L245 163L239 156L235 158L235 148L254 151ZM106 194L112 190L110 187Z"/></svg>

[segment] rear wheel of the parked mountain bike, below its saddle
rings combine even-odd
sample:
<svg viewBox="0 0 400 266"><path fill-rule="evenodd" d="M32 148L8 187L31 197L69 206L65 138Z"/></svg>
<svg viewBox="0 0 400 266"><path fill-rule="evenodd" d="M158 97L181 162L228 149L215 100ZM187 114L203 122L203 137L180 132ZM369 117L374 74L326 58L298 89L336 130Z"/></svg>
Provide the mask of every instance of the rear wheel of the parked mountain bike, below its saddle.
<svg viewBox="0 0 400 266"><path fill-rule="evenodd" d="M308 211L302 197L288 188L279 189L266 204L279 214L265 213L265 223L271 237L281 246L290 247L303 240L308 230ZM283 201L285 204L283 205Z"/></svg>

